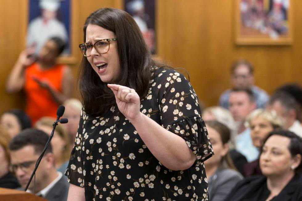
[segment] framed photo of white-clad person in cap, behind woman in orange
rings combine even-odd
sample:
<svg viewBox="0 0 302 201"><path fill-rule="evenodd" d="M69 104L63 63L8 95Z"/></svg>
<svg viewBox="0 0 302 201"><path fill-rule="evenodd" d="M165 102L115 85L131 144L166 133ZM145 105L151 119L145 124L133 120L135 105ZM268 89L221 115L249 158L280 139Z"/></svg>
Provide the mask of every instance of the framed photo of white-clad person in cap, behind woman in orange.
<svg viewBox="0 0 302 201"><path fill-rule="evenodd" d="M38 54L49 38L58 37L66 44L58 62L76 62L76 10L77 5L71 0L28 0L26 46L34 46Z"/></svg>

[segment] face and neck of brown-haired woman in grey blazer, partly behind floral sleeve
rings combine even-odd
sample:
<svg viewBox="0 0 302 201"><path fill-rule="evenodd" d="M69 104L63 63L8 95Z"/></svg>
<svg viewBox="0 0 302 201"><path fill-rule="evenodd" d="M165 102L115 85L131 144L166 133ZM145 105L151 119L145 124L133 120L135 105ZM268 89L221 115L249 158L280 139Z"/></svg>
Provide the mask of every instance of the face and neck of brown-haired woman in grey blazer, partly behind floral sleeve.
<svg viewBox="0 0 302 201"><path fill-rule="evenodd" d="M219 166L222 157L227 154L228 146L222 144L220 134L214 128L207 126L207 130L215 154L204 163L206 166Z"/></svg>

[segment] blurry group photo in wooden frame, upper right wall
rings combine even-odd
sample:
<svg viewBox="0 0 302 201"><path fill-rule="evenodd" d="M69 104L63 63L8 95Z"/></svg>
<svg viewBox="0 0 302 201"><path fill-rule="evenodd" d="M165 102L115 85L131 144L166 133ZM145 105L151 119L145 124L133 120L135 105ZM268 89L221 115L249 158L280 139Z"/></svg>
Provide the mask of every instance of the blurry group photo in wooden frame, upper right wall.
<svg viewBox="0 0 302 201"><path fill-rule="evenodd" d="M291 0L235 0L235 15L236 44L292 43Z"/></svg>

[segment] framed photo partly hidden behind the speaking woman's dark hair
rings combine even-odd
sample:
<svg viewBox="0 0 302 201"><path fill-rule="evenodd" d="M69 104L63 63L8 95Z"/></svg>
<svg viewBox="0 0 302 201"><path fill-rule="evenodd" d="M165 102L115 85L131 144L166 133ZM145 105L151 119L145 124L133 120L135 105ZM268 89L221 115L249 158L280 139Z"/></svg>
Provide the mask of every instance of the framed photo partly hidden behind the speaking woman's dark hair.
<svg viewBox="0 0 302 201"><path fill-rule="evenodd" d="M124 10L141 29L150 52L156 54L155 0L124 0Z"/></svg>

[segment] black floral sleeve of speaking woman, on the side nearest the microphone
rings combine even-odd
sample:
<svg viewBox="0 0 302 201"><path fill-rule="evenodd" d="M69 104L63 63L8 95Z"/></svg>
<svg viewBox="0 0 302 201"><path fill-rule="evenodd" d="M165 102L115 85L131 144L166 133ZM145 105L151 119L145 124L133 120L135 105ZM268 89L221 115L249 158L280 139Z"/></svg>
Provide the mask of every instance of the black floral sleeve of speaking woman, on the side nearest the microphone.
<svg viewBox="0 0 302 201"><path fill-rule="evenodd" d="M84 110L82 109L79 128L76 134L76 141L71 151L67 170L65 171L65 175L67 176L67 181L79 187L84 187L84 176L85 176L85 170L83 170L83 159L81 155L82 136L85 132L85 129L83 129L84 122L85 122L84 119L86 119L86 115Z"/></svg>

